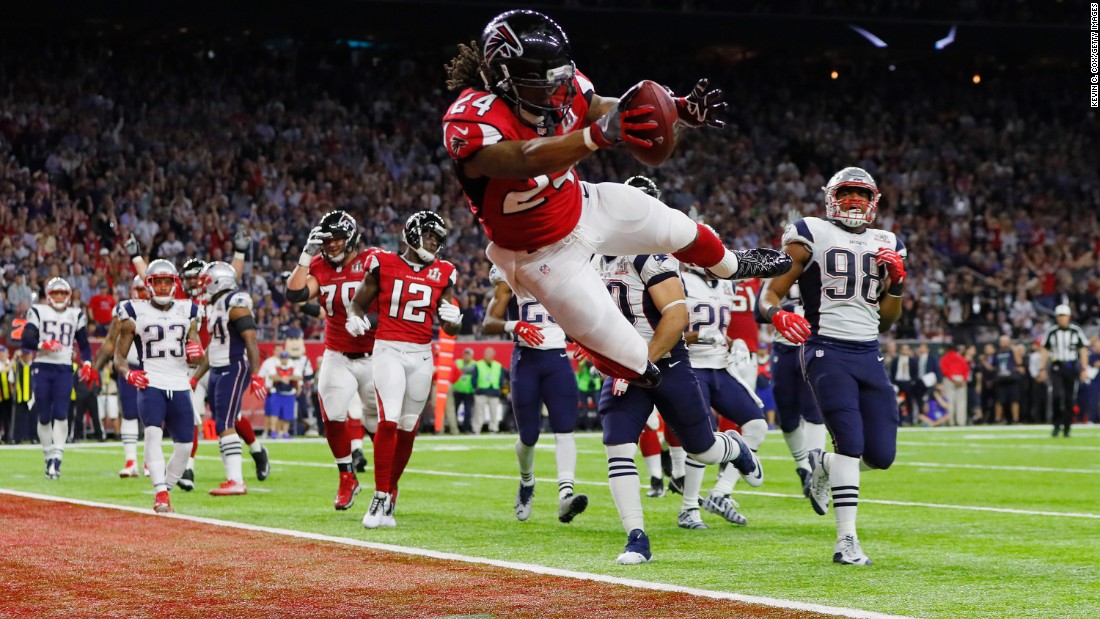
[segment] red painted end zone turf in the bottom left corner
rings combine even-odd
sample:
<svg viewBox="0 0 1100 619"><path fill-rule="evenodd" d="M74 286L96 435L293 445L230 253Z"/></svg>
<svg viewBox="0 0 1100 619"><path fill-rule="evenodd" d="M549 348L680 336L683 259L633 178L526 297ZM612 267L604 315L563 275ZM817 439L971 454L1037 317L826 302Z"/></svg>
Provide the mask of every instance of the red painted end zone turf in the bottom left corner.
<svg viewBox="0 0 1100 619"><path fill-rule="evenodd" d="M0 522L2 617L823 617L10 495Z"/></svg>

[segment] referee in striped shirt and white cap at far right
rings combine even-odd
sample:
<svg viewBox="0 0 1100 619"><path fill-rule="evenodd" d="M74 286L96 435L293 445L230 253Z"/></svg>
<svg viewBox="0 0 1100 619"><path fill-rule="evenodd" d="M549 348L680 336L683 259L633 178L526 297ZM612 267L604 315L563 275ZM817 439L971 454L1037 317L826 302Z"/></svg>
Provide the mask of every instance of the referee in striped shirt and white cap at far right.
<svg viewBox="0 0 1100 619"><path fill-rule="evenodd" d="M1057 325L1046 332L1043 340L1043 367L1050 362L1050 395L1053 401L1054 432L1062 428L1064 436L1069 436L1069 425L1074 422L1074 402L1077 401L1078 380L1086 379L1088 368L1088 339L1080 327L1069 322L1069 306L1054 308Z"/></svg>

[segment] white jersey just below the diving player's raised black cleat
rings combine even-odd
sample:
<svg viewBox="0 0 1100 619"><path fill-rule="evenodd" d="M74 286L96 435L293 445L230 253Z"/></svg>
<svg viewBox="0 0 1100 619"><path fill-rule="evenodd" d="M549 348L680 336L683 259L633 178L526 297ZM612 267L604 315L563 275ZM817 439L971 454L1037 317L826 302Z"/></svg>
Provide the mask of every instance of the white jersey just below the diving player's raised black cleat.
<svg viewBox="0 0 1100 619"><path fill-rule="evenodd" d="M728 279L707 279L692 272L682 274L688 295L690 329L706 344L690 344L688 355L692 367L725 368L729 363L726 330L734 305L734 283Z"/></svg>

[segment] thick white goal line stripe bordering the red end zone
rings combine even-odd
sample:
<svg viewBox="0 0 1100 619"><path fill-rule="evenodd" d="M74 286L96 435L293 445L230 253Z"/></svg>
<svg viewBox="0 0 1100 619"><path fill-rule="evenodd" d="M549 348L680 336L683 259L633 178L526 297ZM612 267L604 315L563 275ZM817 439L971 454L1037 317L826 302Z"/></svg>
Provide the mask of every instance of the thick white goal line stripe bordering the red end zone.
<svg viewBox="0 0 1100 619"><path fill-rule="evenodd" d="M258 524L245 524L243 522L232 522L230 520L218 520L215 518L202 518L198 516L185 516L182 513L153 513L152 510L147 508L130 507L122 505L113 505L107 502L96 502L81 499L70 499L64 497L55 497L50 495L40 495L35 493L23 493L19 490L9 490L7 488L0 488L0 494L11 495L16 497L37 499L37 500L48 500L55 502L67 502L70 505L80 505L85 507L98 507L101 509L114 509L118 511L130 511L133 513L140 513L142 516L148 516L154 518L175 518L177 520L187 520L190 522L198 522L201 524L211 524L215 527L224 527L227 529L241 529L244 531L256 531L262 533L272 533L275 535L285 535L288 538L297 538L301 540L314 540L319 542L331 542L337 544L365 548L371 550L377 550L383 552L396 552L400 554L408 554L411 556L425 556L429 559L441 559L444 561L459 561L462 563L474 563L479 565L492 565L494 567L503 567L505 570L516 570L519 572L529 572L532 574L544 574L548 576L558 576L562 578L573 578L576 581L588 581L593 583L605 583L608 585L623 585L626 587L634 587L638 589L649 589L658 592L670 592L679 594L688 594L696 597L707 597L712 599L728 599L733 601L740 601L745 604L756 604L759 606L770 606L772 608L787 608L791 610L805 610L809 612L821 612L823 615L834 615L837 617L854 617L857 619L908 619L901 615L884 615L882 612L875 612L870 610L859 610L856 608L842 608L836 606L822 606L817 604L809 604L803 601L794 601L771 597L761 596L749 596L728 592L715 592L710 589L698 589L695 587L685 587L681 585L671 585L667 583L652 583L649 581L639 581L636 578L620 578L617 576L607 576L604 574L592 574L588 572L574 572L572 570L561 570L558 567L548 567L544 565L537 565L534 563L518 563L514 561L499 561L496 559L483 559L480 556L469 556L464 554L454 554L450 552L440 552L428 549L418 549L410 546L399 546L395 544L382 544L377 542L366 542L363 540L355 540L351 538L337 538L334 535L324 535L321 533L310 533L307 531L295 531L292 529L277 529L274 527L261 527Z"/></svg>

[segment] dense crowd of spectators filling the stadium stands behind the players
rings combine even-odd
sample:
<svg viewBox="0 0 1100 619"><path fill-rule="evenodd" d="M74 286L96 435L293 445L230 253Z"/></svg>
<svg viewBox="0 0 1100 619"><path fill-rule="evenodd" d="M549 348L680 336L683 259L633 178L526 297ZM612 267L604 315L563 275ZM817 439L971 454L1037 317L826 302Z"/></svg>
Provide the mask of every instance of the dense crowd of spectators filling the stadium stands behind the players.
<svg viewBox="0 0 1100 619"><path fill-rule="evenodd" d="M618 54L582 58L597 91L641 77L685 86L659 49ZM131 232L150 259L182 262L231 255L245 226L261 336L300 327L316 338L319 322L285 301L285 273L336 208L358 218L365 243L391 250L409 212L443 214L471 308L462 332L476 334L490 263L440 143L444 56L300 43L4 49L4 334L57 275L101 334L128 297ZM1031 341L1059 303L1081 325L1100 321L1100 178L1089 156L1100 132L1070 129L1079 102L1057 68L991 68L975 85L961 68L945 84L954 69L942 65L851 60L829 79L824 62L698 57L697 73L726 89L730 126L685 134L678 156L649 170L670 206L735 246L777 246L785 222L821 213L829 170L859 165L882 189L880 225L910 251L898 339ZM590 180L639 172L619 153L581 169Z"/></svg>

